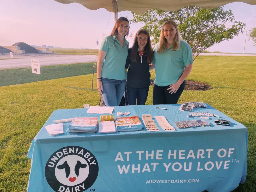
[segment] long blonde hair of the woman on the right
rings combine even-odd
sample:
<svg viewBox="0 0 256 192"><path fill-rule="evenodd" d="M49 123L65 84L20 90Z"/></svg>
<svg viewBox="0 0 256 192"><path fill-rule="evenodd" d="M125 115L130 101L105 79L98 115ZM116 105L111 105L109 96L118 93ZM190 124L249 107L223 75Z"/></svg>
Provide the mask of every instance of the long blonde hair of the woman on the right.
<svg viewBox="0 0 256 192"><path fill-rule="evenodd" d="M180 37L178 26L177 26L177 24L174 20L170 19L170 20L165 21L163 26L162 26L161 34L160 34L160 38L159 38L159 46L156 50L157 53L163 53L164 46L167 43L167 39L164 37L164 26L167 25L167 24L172 24L176 29L176 34L175 34L175 37L173 38L174 42L173 42L172 50L175 51L175 50L180 48L181 37ZM165 46L165 48L167 49L166 46Z"/></svg>

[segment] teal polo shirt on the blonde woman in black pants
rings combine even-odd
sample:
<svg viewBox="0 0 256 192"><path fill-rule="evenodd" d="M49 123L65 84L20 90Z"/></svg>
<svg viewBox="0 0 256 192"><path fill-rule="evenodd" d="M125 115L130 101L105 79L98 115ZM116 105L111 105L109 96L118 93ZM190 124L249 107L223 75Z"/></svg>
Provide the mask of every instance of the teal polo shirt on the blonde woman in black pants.
<svg viewBox="0 0 256 192"><path fill-rule="evenodd" d="M157 53L156 49L158 44L154 49L154 59L155 64L155 81L154 84L157 86L168 86L176 83L183 71L185 66L193 63L193 53L190 45L181 40L180 48L178 50L172 51L172 46L163 53Z"/></svg>

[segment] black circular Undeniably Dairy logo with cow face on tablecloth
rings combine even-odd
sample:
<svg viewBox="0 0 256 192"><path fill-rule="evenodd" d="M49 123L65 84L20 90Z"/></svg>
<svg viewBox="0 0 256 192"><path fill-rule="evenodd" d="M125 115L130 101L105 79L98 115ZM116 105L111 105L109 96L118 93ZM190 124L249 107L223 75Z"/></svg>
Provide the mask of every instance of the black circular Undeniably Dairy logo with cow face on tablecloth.
<svg viewBox="0 0 256 192"><path fill-rule="evenodd" d="M55 151L45 165L46 180L56 192L85 191L96 181L98 173L95 156L79 146Z"/></svg>

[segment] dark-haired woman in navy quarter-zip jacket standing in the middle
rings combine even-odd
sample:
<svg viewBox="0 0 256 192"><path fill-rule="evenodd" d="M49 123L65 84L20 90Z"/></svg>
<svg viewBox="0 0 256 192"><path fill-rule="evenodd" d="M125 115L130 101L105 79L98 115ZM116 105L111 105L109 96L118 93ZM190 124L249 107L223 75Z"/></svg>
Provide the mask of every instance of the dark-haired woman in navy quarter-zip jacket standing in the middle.
<svg viewBox="0 0 256 192"><path fill-rule="evenodd" d="M125 68L127 73L128 105L145 105L150 86L149 64L153 61L153 50L147 30L140 29L128 50Z"/></svg>

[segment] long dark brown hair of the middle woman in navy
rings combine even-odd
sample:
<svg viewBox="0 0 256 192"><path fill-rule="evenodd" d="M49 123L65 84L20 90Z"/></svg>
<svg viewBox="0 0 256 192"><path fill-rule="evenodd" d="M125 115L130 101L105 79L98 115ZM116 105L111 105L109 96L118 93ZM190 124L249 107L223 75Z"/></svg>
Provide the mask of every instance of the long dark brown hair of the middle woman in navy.
<svg viewBox="0 0 256 192"><path fill-rule="evenodd" d="M146 29L140 29L135 35L135 39L134 39L132 50L131 50L131 60L133 62L137 62L138 59L139 59L139 56L138 56L138 48L139 48L138 37L142 33L148 36L147 44L144 47L144 52L146 52L146 54L147 54L147 62L151 63L153 61L153 49L151 47L151 41L150 41L149 33Z"/></svg>

